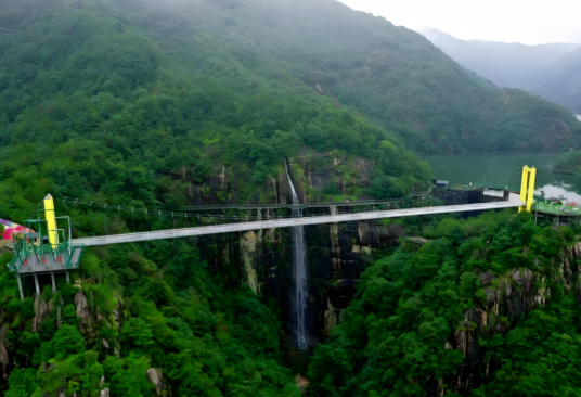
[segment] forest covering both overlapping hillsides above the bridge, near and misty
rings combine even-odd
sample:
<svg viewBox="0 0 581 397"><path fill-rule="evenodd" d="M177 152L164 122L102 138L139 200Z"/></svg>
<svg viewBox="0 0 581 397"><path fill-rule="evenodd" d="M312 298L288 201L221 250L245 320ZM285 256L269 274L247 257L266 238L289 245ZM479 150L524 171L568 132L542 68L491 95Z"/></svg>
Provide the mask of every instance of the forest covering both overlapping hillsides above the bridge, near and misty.
<svg viewBox="0 0 581 397"><path fill-rule="evenodd" d="M422 36L335 2L1 8L0 156L11 182L0 213L14 219L49 190L177 208L186 185L221 165L233 181L221 198L245 201L305 148L374 161L373 189L361 193L398 196L430 177L401 141L557 149L577 128L561 108L486 87Z"/></svg>

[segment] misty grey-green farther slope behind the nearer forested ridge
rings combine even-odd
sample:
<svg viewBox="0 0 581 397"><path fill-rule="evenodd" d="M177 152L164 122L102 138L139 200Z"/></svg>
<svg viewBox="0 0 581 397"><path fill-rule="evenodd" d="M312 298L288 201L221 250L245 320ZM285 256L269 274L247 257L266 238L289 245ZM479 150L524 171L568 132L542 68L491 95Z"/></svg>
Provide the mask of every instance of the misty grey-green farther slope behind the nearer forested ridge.
<svg viewBox="0 0 581 397"><path fill-rule="evenodd" d="M248 65L288 65L313 90L398 135L409 149L540 150L574 144L577 120L560 106L468 76L419 34L337 1L228 0L127 10L177 15L220 37ZM139 5L137 5L139 4ZM157 15L156 14L156 15ZM166 33L166 31L164 31Z"/></svg>

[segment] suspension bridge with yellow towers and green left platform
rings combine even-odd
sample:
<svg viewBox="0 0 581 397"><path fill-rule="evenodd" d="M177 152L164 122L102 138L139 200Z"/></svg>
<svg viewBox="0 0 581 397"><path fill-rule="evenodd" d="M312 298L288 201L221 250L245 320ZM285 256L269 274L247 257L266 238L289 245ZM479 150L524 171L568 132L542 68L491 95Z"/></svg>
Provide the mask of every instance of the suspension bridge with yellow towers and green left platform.
<svg viewBox="0 0 581 397"><path fill-rule="evenodd" d="M205 234L231 233L259 229L400 218L421 215L482 212L504 208L518 208L519 212L530 212L534 201L533 193L535 172L535 168L529 168L525 166L522 170L522 183L520 193L514 193L505 190L502 192L502 194L496 194L495 200L486 203L421 206L421 203L424 203L424 200L426 198L427 194L416 193L415 196L418 197L418 201L415 203L418 206L416 208L397 208L397 206L395 206L391 202L364 202L365 205L371 205L372 208L366 208L364 210L353 212L349 214L339 214L337 210L337 205L333 205L334 203L331 203L330 205L330 203L327 203L324 206L331 208L331 214L324 215L288 218L267 217L264 219L261 215L261 212L259 212L257 220L255 221L245 221L244 217L234 217L234 220L231 217L228 219L222 217L222 225L197 226L191 228L113 234L81 239L72 238L69 217L55 216L53 197L49 194L43 201L44 209L39 212L44 214L44 219L40 219L39 215L39 219L25 220L24 232L20 235L12 235L14 242L15 257L8 266L10 270L16 272L18 286L21 290L21 297L24 298L21 282L22 276L34 276L37 293L40 293L37 274L50 273L53 290L55 290L56 284L54 280L54 274L59 272L65 272L67 281L69 281L69 270L78 268L85 247L90 246L198 236ZM380 204L378 205L379 208L375 207L375 205L377 204ZM350 203L350 205L353 206L361 204ZM314 206L323 206L323 204L319 203ZM388 209L380 208L385 208L386 206ZM396 208L391 209L392 207ZM120 206L109 206L109 208L120 210ZM247 206L244 206L244 208L248 209ZM153 212L153 214L157 214L157 212ZM175 213L171 214L175 215ZM159 215L162 215L162 212L159 212ZM185 217L188 217L188 214L185 214ZM195 217L190 216L190 218L192 219ZM210 216L210 218L215 219L215 217L212 216ZM248 218L249 217L246 217L246 219ZM67 228L59 228L57 220L61 223L61 227L64 222L67 222Z"/></svg>

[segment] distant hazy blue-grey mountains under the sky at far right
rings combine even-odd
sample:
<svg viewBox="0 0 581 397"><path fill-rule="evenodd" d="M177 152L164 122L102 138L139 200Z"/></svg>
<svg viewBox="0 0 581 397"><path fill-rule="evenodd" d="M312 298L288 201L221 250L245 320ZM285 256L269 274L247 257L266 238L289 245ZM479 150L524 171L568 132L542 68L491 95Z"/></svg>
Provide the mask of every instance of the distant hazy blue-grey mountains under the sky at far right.
<svg viewBox="0 0 581 397"><path fill-rule="evenodd" d="M454 61L499 87L528 90L581 113L578 43L466 41L431 28L423 29L422 34Z"/></svg>

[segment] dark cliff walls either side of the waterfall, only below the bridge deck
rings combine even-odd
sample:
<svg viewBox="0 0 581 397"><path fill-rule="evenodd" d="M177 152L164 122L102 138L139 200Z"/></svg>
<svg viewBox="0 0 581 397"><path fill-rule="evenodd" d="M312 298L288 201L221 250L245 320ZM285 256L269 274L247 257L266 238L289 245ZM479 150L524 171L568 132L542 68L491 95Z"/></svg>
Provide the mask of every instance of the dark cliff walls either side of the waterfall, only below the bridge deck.
<svg viewBox="0 0 581 397"><path fill-rule="evenodd" d="M349 305L360 274L378 247L392 246L404 228L382 227L373 221L318 225L305 228L309 269L308 332L310 343L328 335ZM218 249L205 249L219 239ZM221 274L237 277L257 294L281 300L287 318L293 252L288 229L264 229L240 234L205 236L198 242L205 259Z"/></svg>

